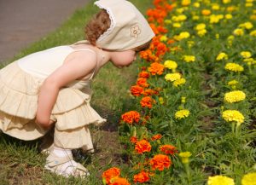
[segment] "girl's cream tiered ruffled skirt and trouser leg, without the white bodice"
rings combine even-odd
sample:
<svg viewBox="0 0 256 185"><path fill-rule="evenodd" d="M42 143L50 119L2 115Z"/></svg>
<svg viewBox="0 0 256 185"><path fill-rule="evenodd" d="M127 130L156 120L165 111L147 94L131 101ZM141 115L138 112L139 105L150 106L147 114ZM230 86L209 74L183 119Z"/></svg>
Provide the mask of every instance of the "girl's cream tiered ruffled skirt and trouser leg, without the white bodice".
<svg viewBox="0 0 256 185"><path fill-rule="evenodd" d="M44 79L35 78L14 62L0 70L0 130L21 140L44 136L35 124L38 91ZM55 119L55 142L59 147L92 148L89 124L102 124L106 119L90 107L90 86L83 89L63 88L52 110Z"/></svg>

